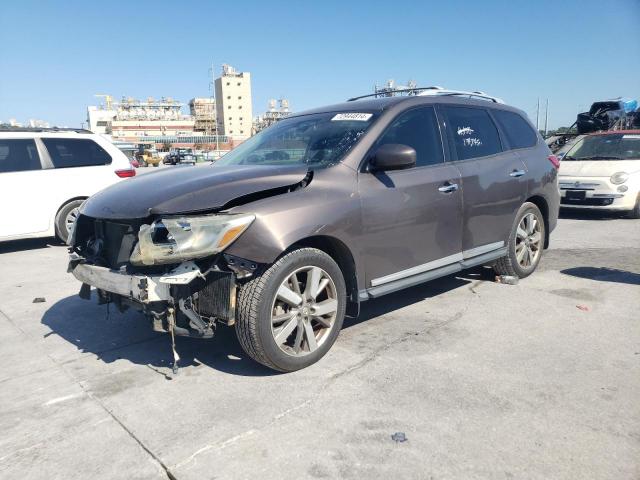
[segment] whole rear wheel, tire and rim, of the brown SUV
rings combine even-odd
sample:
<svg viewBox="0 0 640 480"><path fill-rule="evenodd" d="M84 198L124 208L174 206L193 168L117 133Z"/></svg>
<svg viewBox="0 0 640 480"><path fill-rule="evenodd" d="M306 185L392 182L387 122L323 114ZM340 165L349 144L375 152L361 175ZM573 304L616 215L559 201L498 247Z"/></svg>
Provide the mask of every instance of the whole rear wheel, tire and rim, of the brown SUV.
<svg viewBox="0 0 640 480"><path fill-rule="evenodd" d="M544 217L540 209L533 203L524 203L511 229L507 254L498 259L493 269L498 275L528 277L540 263L544 239Z"/></svg>

